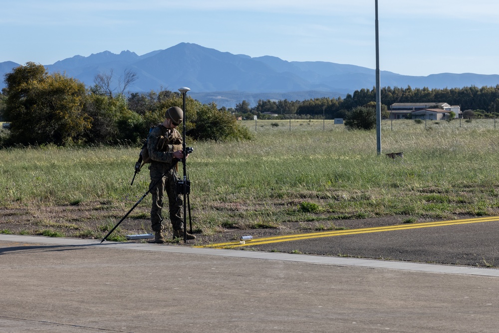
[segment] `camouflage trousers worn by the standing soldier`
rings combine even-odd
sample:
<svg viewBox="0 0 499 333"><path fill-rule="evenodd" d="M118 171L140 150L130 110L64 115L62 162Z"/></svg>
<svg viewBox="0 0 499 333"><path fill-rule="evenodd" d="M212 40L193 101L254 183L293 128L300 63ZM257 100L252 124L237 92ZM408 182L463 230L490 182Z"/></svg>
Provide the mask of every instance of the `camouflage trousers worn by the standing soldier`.
<svg viewBox="0 0 499 333"><path fill-rule="evenodd" d="M173 230L182 230L184 225L184 202L182 195L177 193L178 175L175 168L161 162L152 162L149 166L151 183L149 189L152 194L151 229L160 231L164 228L163 198L166 192L169 205L170 222ZM170 169L170 170L169 170Z"/></svg>

